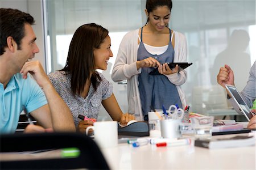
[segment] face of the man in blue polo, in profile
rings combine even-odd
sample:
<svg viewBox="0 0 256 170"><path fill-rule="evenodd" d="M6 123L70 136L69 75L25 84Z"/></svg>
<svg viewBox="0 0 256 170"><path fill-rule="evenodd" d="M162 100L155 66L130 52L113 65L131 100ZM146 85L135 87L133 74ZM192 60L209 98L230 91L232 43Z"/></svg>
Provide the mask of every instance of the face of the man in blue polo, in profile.
<svg viewBox="0 0 256 170"><path fill-rule="evenodd" d="M18 71L22 69L25 62L28 59L35 57L35 53L39 52L39 48L36 45L36 36L30 24L24 24L24 37L20 41L20 50L16 50L15 63Z"/></svg>

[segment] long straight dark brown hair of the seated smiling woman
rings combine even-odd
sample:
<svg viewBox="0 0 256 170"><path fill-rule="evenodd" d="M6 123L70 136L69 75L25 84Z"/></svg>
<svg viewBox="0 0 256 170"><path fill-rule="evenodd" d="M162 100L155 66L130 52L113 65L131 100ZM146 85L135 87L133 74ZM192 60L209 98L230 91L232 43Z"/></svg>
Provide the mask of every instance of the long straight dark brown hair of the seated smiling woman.
<svg viewBox="0 0 256 170"><path fill-rule="evenodd" d="M95 23L84 24L76 29L69 45L67 62L60 71L71 74L71 90L73 94L81 95L84 91L86 80L90 79L96 91L101 82L101 77L95 71L93 51L100 48L104 39L108 36L108 29Z"/></svg>

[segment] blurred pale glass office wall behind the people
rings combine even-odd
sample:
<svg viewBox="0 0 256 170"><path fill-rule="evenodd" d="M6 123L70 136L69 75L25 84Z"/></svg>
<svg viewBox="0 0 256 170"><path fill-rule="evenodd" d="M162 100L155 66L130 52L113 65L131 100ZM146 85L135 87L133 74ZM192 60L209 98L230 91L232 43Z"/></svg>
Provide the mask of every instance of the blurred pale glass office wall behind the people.
<svg viewBox="0 0 256 170"><path fill-rule="evenodd" d="M187 37L187 82L182 86L191 112L213 115L235 114L226 101L225 90L217 85L218 69L230 65L235 83L242 90L256 59L255 1L173 0L169 27ZM1 7L18 8L35 17L36 58L47 73L63 68L75 30L84 23L109 29L114 57L108 70L100 71L114 85L114 94L127 112L125 81L110 78L123 35L146 23L145 0L0 0ZM101 119L110 117L101 109Z"/></svg>

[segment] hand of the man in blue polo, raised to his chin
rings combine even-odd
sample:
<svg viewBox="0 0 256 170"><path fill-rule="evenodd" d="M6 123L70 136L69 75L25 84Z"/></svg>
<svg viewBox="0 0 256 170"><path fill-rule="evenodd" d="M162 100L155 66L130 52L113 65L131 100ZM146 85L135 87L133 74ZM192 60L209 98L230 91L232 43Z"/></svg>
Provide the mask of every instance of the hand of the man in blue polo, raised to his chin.
<svg viewBox="0 0 256 170"><path fill-rule="evenodd" d="M20 73L23 74L23 79L27 79L27 74L30 73L40 87L51 84L39 61L27 61L20 70Z"/></svg>

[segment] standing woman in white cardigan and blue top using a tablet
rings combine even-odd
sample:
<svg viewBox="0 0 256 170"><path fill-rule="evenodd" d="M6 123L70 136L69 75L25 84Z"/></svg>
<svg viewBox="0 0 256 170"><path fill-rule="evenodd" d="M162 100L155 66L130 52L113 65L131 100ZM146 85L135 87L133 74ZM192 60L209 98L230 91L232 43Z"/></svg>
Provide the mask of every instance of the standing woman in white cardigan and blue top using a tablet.
<svg viewBox="0 0 256 170"><path fill-rule="evenodd" d="M147 0L146 25L128 32L119 46L112 79L127 79L128 112L137 120L147 120L151 106L161 109L162 105L186 105L180 86L187 73L177 65L170 69L166 63L187 60L185 36L168 28L171 9L170 0ZM156 66L161 75L149 75Z"/></svg>

